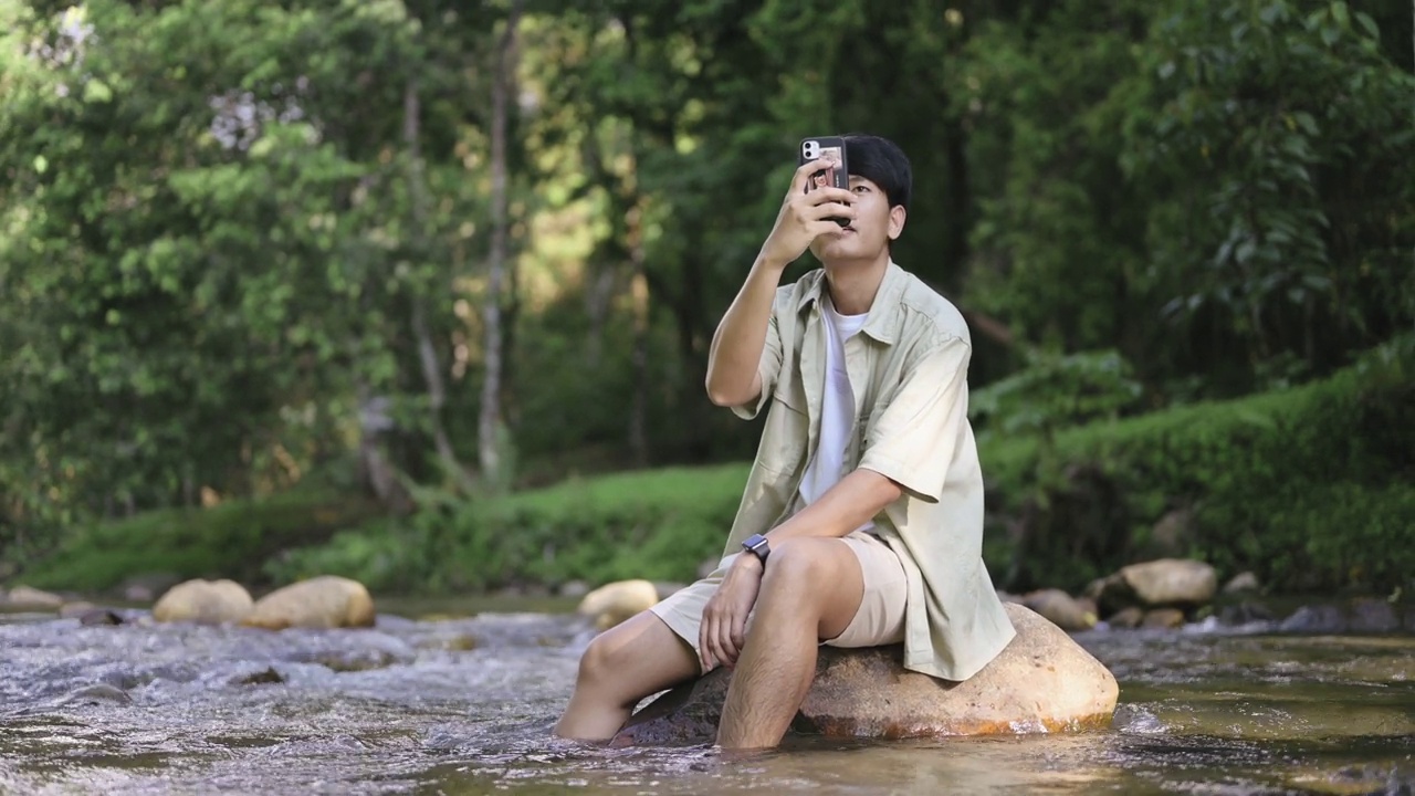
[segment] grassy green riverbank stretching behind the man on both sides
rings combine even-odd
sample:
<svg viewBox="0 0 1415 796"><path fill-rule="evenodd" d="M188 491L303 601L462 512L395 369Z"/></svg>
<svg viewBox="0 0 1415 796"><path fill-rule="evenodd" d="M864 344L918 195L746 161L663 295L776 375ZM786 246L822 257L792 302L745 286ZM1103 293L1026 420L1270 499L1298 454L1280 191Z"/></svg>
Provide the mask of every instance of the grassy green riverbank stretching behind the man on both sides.
<svg viewBox="0 0 1415 796"><path fill-rule="evenodd" d="M1009 591L1080 591L1165 555L1252 571L1272 593L1412 589L1415 368L1367 357L1334 377L1057 432L990 438L985 557ZM556 592L625 578L686 582L722 552L749 463L573 479L372 517L310 491L76 531L11 578L105 592L134 578L318 574L374 593Z"/></svg>

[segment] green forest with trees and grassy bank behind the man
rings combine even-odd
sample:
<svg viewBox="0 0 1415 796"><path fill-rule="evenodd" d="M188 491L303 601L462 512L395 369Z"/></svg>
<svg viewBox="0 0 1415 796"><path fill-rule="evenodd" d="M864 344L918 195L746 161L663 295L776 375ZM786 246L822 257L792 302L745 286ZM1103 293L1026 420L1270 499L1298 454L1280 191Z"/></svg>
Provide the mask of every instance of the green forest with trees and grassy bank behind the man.
<svg viewBox="0 0 1415 796"><path fill-rule="evenodd" d="M691 579L712 331L865 130L999 586L1411 591L1412 58L1405 0L0 0L0 582Z"/></svg>

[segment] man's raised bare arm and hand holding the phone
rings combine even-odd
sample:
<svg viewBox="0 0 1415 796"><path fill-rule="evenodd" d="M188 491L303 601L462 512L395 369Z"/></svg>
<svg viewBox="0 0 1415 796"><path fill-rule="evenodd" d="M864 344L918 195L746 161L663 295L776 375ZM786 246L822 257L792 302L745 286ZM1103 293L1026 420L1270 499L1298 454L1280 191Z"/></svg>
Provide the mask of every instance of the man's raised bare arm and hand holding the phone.
<svg viewBox="0 0 1415 796"><path fill-rule="evenodd" d="M781 272L816 237L841 235L841 225L831 217L855 218L855 194L850 191L826 187L807 193L811 173L828 167L825 159L818 159L795 170L775 227L713 333L706 387L708 398L719 406L740 406L761 394L761 351Z"/></svg>

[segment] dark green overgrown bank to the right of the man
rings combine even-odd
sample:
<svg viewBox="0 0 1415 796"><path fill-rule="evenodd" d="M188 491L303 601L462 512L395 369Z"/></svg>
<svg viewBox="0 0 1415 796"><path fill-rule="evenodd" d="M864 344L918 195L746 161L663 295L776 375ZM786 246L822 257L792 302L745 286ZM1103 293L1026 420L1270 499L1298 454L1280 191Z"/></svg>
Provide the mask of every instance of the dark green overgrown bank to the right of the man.
<svg viewBox="0 0 1415 796"><path fill-rule="evenodd" d="M1180 554L1221 574L1252 569L1276 589L1388 591L1415 567L1412 452L1407 336L1305 387L1060 432L1064 476L1041 496L1039 448L995 442L985 469L993 510L1029 523L1017 588L1081 588L1140 555L1163 514L1187 508Z"/></svg>

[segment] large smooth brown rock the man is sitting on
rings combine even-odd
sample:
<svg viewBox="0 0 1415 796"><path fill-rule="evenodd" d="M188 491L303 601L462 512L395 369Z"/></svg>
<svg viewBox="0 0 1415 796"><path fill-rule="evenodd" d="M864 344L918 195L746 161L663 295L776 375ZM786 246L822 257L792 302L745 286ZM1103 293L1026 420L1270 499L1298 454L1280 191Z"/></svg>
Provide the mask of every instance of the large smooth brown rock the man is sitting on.
<svg viewBox="0 0 1415 796"><path fill-rule="evenodd" d="M1017 636L962 683L903 667L903 646L821 647L791 732L831 738L1007 735L1109 727L1115 677L1064 630L1006 603ZM716 669L649 703L613 746L710 744L732 671Z"/></svg>

